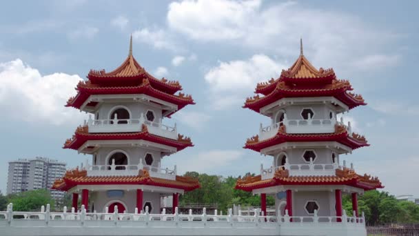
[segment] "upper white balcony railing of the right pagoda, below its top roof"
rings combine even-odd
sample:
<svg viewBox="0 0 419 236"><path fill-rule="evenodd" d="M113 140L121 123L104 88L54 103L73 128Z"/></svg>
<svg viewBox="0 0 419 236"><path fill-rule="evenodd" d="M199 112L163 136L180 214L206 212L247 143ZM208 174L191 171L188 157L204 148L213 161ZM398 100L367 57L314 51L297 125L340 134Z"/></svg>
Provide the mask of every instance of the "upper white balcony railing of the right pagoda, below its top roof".
<svg viewBox="0 0 419 236"><path fill-rule="evenodd" d="M332 119L311 119L311 117L309 119L287 119L287 116L284 115L281 122L265 127L260 124L259 139L265 140L274 137L280 126L285 126L289 134L321 134L335 132L336 124L344 125L351 133L351 123L348 122L346 126L343 124L343 118L340 118L340 121L336 121L334 117Z"/></svg>

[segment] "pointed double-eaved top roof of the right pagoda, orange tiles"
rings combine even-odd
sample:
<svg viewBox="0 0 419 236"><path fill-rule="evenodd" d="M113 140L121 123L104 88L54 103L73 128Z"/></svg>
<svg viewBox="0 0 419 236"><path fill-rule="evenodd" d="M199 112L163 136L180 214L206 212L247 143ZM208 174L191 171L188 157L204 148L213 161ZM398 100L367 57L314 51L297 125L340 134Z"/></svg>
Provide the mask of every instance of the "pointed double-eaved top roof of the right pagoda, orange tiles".
<svg viewBox="0 0 419 236"><path fill-rule="evenodd" d="M361 95L355 95L347 80L336 79L333 69L317 70L303 55L288 70L283 70L278 79L256 86L254 97L248 97L243 108L259 112L260 108L285 97L336 97L349 109L366 105ZM259 95L260 94L260 95Z"/></svg>

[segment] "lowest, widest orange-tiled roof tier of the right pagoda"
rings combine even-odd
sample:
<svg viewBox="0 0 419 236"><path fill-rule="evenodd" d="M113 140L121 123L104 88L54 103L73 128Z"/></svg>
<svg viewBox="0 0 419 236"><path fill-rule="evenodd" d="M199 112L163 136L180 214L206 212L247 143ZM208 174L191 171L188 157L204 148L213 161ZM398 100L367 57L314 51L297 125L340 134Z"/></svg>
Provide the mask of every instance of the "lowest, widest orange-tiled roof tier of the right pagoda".
<svg viewBox="0 0 419 236"><path fill-rule="evenodd" d="M289 176L289 171L283 168L276 170L272 179L262 179L261 175L238 179L236 189L252 191L258 188L287 185L338 185L354 186L364 190L384 188L377 177L358 175L353 169L336 169L336 175L324 176Z"/></svg>

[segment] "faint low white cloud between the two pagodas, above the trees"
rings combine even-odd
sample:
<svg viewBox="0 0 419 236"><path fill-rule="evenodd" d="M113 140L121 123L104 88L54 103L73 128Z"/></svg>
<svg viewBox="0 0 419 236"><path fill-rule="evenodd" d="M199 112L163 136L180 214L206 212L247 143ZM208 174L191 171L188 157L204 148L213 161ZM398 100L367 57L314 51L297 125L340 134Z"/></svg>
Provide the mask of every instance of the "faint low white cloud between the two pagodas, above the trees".
<svg viewBox="0 0 419 236"><path fill-rule="evenodd" d="M190 158L176 160L182 170L192 170L198 173L219 173L219 170L238 163L244 152L238 150L206 150Z"/></svg>

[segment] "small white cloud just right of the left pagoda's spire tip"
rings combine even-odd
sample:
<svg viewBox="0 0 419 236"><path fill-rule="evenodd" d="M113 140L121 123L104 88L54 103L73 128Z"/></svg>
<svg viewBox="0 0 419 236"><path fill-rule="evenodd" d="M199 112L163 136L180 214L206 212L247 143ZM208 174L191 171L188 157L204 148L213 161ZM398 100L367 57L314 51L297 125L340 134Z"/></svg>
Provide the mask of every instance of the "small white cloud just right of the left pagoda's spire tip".
<svg viewBox="0 0 419 236"><path fill-rule="evenodd" d="M176 46L172 40L171 35L163 29L142 28L141 30L136 30L132 33L132 37L136 41L150 44L157 49L179 50L178 46Z"/></svg>

